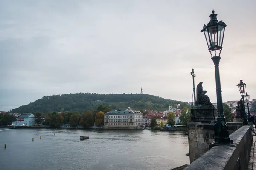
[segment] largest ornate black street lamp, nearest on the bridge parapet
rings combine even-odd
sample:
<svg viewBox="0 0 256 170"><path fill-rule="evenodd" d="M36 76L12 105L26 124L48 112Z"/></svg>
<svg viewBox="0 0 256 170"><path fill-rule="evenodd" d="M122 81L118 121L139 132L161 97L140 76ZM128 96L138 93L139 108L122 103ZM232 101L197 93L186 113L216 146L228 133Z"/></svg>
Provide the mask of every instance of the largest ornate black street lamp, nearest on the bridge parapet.
<svg viewBox="0 0 256 170"><path fill-rule="evenodd" d="M210 22L205 25L201 32L204 32L204 37L207 42L208 50L212 56L212 61L215 66L215 82L216 82L216 95L217 95L217 109L218 116L217 122L214 123L214 143L215 144L233 144L230 143L230 138L228 134L228 126L223 114L223 103L221 95L221 80L219 72L219 63L221 59L221 50L223 37L225 32L225 27L227 26L222 20L217 20L217 14L212 10L210 15ZM213 54L212 54L213 52Z"/></svg>

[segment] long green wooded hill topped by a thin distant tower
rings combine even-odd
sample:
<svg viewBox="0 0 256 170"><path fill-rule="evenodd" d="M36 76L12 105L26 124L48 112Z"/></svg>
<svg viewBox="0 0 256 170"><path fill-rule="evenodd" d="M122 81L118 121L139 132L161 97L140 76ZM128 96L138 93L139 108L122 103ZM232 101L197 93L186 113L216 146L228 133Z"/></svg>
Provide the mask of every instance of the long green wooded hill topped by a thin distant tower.
<svg viewBox="0 0 256 170"><path fill-rule="evenodd" d="M167 110L169 105L180 104L181 108L186 106L185 102L164 99L149 94L96 94L76 93L44 96L41 99L12 109L12 113L34 113L39 111L78 111L96 110L98 105L105 105L112 110L131 107L133 110L152 109Z"/></svg>

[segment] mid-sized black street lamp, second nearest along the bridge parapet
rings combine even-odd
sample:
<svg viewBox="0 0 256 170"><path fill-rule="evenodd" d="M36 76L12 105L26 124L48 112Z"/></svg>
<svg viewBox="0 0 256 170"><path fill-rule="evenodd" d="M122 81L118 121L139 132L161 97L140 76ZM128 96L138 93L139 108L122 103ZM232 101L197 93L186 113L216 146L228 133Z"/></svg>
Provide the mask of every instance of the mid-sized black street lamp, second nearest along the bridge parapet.
<svg viewBox="0 0 256 170"><path fill-rule="evenodd" d="M248 124L248 120L246 118L246 113L245 113L245 107L244 107L244 93L245 93L245 89L246 89L246 84L243 82L243 80L240 80L240 83L236 85L239 89L239 92L242 96L241 100L240 100L240 115L243 116L243 125L249 125Z"/></svg>

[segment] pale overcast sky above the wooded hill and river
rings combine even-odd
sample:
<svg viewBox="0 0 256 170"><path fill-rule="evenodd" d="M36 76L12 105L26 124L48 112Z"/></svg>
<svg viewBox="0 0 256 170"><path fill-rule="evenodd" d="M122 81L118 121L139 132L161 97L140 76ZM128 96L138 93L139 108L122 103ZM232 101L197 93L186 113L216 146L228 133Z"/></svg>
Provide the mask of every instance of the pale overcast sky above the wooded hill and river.
<svg viewBox="0 0 256 170"><path fill-rule="evenodd" d="M0 111L43 96L143 93L190 102L192 76L216 102L204 34L212 9L226 24L223 101L256 98L255 0L1 0Z"/></svg>

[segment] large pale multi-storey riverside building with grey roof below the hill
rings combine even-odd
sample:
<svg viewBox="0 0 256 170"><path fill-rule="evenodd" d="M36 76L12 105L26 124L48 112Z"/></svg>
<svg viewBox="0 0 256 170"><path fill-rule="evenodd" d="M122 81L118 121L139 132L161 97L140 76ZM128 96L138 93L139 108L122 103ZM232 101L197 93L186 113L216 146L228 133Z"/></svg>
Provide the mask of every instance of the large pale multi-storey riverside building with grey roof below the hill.
<svg viewBox="0 0 256 170"><path fill-rule="evenodd" d="M121 111L109 111L104 115L106 129L140 129L143 125L143 117L140 111L134 111L130 107Z"/></svg>

